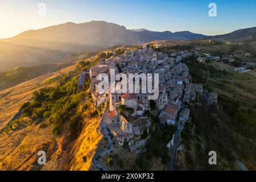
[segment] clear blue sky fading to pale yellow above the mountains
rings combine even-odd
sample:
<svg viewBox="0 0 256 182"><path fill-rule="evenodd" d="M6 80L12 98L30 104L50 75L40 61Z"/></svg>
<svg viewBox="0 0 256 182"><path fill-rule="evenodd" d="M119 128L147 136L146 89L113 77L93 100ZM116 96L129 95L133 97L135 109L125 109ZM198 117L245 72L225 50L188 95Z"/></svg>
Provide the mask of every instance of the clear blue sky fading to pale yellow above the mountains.
<svg viewBox="0 0 256 182"><path fill-rule="evenodd" d="M209 3L217 5L217 17L209 17ZM38 16L38 4L46 4L46 17ZM128 29L192 31L225 34L256 26L255 0L1 0L0 38L65 22L105 20Z"/></svg>

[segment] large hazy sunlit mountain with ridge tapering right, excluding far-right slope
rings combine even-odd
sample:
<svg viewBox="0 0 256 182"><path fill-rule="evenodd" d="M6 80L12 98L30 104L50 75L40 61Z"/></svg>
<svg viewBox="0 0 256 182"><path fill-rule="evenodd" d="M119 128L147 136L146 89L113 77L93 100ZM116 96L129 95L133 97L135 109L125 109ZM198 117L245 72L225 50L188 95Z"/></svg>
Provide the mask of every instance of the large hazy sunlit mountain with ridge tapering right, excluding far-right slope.
<svg viewBox="0 0 256 182"><path fill-rule="evenodd" d="M204 37L188 31L172 33L146 29L127 30L118 24L92 21L79 24L68 22L40 30L30 30L2 41L66 52L80 52L154 40L190 40Z"/></svg>

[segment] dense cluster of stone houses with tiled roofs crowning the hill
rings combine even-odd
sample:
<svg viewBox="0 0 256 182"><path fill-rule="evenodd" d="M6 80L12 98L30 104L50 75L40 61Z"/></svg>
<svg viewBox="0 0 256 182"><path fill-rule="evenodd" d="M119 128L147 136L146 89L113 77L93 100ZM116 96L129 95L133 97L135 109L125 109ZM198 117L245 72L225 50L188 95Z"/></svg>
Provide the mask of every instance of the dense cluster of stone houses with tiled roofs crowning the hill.
<svg viewBox="0 0 256 182"><path fill-rule="evenodd" d="M113 135L113 141L119 146L129 146L130 152L141 154L145 151L151 119L148 113L156 111L162 127L173 125L176 131L167 147L176 155L179 137L184 124L191 121L190 110L186 106L190 101L195 101L197 95L204 96L206 105L217 106L217 93L203 89L203 84L189 82L189 69L181 63L186 57L191 56L189 51L175 52L167 55L157 52L154 48L143 46L126 49L124 53L112 53L108 59L101 60L86 72L82 72L78 81L78 91L83 90L85 77L90 78L90 91L96 107L108 102L108 113L102 126ZM148 100L148 93L99 93L97 76L101 73L110 74L110 69L115 73L158 73L159 97ZM118 81L116 81L118 82ZM142 80L140 81L141 84ZM106 135L109 135L106 132ZM114 149L113 149L114 150ZM176 158L173 156L173 158ZM175 164L175 161L172 162ZM173 165L174 165L173 164ZM173 166L172 165L172 166ZM104 168L104 167L99 167Z"/></svg>

